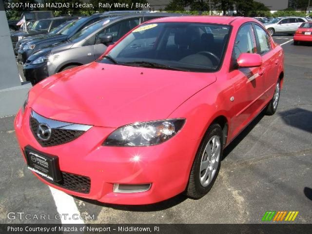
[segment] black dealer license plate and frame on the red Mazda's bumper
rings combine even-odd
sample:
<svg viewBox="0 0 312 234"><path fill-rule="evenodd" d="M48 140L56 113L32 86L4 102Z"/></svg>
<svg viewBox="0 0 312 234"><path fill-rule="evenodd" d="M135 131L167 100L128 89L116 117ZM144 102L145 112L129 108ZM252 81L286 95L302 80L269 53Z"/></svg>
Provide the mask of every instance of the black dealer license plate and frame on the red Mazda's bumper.
<svg viewBox="0 0 312 234"><path fill-rule="evenodd" d="M53 182L62 180L58 156L41 153L30 146L26 146L24 152L29 170Z"/></svg>

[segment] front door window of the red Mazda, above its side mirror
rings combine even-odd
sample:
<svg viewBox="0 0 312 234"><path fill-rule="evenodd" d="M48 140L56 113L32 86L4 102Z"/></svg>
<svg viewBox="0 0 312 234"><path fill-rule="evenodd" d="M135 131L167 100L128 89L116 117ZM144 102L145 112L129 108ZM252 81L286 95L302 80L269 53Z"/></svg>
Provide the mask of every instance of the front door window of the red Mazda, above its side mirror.
<svg viewBox="0 0 312 234"><path fill-rule="evenodd" d="M257 52L256 42L254 38L254 30L251 24L241 27L236 35L234 42L233 57L238 59L242 53L254 54Z"/></svg>

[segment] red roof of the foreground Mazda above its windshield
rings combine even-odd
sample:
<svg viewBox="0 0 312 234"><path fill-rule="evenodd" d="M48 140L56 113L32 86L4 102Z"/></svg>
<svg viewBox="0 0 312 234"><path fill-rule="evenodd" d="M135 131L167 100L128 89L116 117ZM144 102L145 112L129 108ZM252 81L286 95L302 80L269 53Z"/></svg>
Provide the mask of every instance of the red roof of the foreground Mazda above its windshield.
<svg viewBox="0 0 312 234"><path fill-rule="evenodd" d="M231 24L234 20L244 17L233 16L183 16L183 17L166 17L151 20L149 22L198 22L198 23L216 23L216 24ZM245 18L254 21L253 18Z"/></svg>

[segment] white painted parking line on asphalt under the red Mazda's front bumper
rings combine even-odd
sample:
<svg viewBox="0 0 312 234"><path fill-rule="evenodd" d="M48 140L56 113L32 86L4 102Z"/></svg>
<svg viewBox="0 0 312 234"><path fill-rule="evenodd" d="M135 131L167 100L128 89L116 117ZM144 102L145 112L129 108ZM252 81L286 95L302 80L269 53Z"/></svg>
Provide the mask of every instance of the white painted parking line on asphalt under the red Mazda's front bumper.
<svg viewBox="0 0 312 234"><path fill-rule="evenodd" d="M80 212L76 206L74 198L62 191L49 186L55 205L57 207L58 213L61 216L62 224L84 224L84 221L80 218ZM66 217L65 215L66 214ZM73 216L74 215L74 216ZM73 219L73 217L75 219ZM77 219L76 219L77 218Z"/></svg>

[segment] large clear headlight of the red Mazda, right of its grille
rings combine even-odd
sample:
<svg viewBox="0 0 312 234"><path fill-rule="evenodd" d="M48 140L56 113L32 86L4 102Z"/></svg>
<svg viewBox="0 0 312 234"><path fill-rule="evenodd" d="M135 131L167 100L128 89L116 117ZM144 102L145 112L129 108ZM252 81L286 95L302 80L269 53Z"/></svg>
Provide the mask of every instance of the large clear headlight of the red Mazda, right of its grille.
<svg viewBox="0 0 312 234"><path fill-rule="evenodd" d="M111 133L103 146L147 146L160 144L182 128L185 119L166 119L122 126Z"/></svg>

